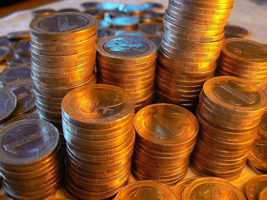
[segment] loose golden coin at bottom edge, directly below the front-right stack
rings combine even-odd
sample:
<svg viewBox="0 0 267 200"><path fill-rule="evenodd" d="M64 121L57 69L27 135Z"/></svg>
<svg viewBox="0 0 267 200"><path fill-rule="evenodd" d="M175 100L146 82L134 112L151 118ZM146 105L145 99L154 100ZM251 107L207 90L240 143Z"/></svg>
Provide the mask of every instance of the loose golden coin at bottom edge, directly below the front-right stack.
<svg viewBox="0 0 267 200"><path fill-rule="evenodd" d="M204 177L194 180L182 192L182 199L239 199L246 200L240 189L229 181L217 177Z"/></svg>

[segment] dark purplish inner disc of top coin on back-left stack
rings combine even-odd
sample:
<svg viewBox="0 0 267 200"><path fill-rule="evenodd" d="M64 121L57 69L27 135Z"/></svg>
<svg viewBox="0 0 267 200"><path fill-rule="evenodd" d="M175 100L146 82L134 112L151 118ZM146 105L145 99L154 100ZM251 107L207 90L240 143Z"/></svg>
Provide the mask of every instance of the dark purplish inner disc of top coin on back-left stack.
<svg viewBox="0 0 267 200"><path fill-rule="evenodd" d="M90 21L84 16L80 15L50 15L50 18L46 18L38 23L38 28L46 31L68 31L73 29L82 28L89 24Z"/></svg>

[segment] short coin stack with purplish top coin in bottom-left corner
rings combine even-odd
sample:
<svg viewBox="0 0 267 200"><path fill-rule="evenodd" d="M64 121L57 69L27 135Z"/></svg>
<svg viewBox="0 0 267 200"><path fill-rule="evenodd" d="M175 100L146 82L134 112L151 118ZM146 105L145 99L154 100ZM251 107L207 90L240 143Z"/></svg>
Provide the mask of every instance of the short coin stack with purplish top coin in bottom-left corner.
<svg viewBox="0 0 267 200"><path fill-rule="evenodd" d="M1 130L3 189L13 199L45 199L64 178L57 128L43 119L24 119Z"/></svg>

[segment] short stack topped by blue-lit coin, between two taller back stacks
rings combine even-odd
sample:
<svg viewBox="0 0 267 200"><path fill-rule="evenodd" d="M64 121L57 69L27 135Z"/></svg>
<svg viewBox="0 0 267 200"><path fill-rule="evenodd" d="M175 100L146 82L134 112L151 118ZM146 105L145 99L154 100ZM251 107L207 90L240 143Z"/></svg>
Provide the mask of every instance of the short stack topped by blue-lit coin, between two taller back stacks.
<svg viewBox="0 0 267 200"><path fill-rule="evenodd" d="M105 37L97 43L97 78L129 92L135 112L150 105L154 94L156 45L133 35Z"/></svg>

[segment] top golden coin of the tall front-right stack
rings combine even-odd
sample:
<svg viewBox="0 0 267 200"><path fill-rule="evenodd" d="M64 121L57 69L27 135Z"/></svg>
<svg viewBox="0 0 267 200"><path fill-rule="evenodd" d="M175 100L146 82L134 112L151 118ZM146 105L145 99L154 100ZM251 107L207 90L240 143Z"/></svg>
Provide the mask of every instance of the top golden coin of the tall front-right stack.
<svg viewBox="0 0 267 200"><path fill-rule="evenodd" d="M217 109L244 116L261 116L267 106L263 90L249 81L231 76L208 79L202 95Z"/></svg>

